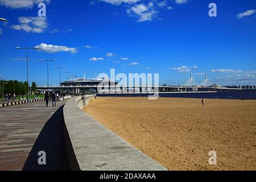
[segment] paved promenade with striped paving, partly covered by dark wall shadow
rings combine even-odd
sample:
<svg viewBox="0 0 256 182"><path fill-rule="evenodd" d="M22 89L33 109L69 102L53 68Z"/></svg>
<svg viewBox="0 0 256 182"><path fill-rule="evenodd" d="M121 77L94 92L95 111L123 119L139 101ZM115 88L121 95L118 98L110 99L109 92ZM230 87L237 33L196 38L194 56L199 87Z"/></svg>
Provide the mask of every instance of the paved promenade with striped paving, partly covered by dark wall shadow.
<svg viewBox="0 0 256 182"><path fill-rule="evenodd" d="M0 109L0 171L68 169L63 105L47 108L42 101ZM46 152L46 166L38 165L39 151Z"/></svg>

